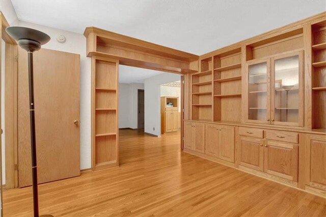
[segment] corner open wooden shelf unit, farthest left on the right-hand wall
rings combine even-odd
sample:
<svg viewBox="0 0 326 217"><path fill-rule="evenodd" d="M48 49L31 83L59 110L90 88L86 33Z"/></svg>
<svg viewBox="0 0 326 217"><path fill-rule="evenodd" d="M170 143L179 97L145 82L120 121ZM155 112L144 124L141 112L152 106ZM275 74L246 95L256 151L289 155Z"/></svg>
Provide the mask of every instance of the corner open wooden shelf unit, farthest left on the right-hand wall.
<svg viewBox="0 0 326 217"><path fill-rule="evenodd" d="M212 58L200 60L200 72L192 75L192 119L212 120Z"/></svg>

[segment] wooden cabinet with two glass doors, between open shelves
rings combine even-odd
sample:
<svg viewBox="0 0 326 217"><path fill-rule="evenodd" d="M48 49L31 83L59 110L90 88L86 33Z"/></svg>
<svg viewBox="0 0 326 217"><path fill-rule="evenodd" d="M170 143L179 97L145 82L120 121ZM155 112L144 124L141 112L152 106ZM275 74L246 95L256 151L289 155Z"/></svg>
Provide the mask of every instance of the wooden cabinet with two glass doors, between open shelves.
<svg viewBox="0 0 326 217"><path fill-rule="evenodd" d="M247 62L246 122L303 126L303 53Z"/></svg>

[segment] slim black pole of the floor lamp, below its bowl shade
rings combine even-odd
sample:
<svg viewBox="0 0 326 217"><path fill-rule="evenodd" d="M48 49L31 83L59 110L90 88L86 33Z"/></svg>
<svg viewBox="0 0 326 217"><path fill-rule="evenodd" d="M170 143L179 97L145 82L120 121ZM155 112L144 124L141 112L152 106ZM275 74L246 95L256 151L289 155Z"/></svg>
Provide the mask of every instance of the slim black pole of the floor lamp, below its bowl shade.
<svg viewBox="0 0 326 217"><path fill-rule="evenodd" d="M29 90L30 90L30 127L31 127L31 154L32 154L32 183L33 183L33 208L34 216L39 216L39 200L37 187L37 160L36 160L36 139L35 139L35 110L34 110L34 70L33 52L28 51L29 63Z"/></svg>

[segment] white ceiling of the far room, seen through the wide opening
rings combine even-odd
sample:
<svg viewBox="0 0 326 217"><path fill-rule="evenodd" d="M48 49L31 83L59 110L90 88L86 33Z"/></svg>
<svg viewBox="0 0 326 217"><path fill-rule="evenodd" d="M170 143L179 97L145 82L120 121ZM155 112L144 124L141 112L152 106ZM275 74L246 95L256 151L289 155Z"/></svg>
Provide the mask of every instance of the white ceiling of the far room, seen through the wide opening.
<svg viewBox="0 0 326 217"><path fill-rule="evenodd" d="M149 69L135 68L130 66L119 65L119 83L142 83L146 78L165 73Z"/></svg>

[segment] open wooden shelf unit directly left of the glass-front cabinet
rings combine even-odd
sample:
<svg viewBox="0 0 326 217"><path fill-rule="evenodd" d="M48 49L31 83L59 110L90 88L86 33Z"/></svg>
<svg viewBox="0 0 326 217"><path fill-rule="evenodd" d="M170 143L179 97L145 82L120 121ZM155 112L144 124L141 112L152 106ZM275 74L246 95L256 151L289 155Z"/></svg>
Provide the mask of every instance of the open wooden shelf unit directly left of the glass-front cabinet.
<svg viewBox="0 0 326 217"><path fill-rule="evenodd" d="M213 68L213 120L240 122L241 47L213 56Z"/></svg>

